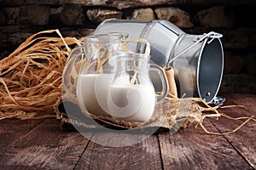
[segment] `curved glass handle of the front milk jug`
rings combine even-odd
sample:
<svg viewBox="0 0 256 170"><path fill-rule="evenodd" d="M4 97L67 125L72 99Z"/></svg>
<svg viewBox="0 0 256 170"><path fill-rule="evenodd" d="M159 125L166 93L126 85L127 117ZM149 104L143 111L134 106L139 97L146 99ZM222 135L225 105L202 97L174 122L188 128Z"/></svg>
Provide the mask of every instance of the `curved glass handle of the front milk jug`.
<svg viewBox="0 0 256 170"><path fill-rule="evenodd" d="M165 71L159 66L159 65L153 65L150 64L150 71L156 71L159 76L160 80L162 82L162 92L159 96L157 96L156 103L160 103L163 99L166 98L166 95L168 94L169 91L169 85L166 77Z"/></svg>

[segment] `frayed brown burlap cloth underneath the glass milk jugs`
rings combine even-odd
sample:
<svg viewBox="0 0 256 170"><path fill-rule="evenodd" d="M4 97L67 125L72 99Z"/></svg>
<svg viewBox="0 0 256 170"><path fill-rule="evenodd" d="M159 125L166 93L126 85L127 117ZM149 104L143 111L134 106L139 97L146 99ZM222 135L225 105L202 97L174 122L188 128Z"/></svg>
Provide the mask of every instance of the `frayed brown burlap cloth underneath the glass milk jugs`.
<svg viewBox="0 0 256 170"><path fill-rule="evenodd" d="M64 95L65 97L65 95ZM112 116L96 116L82 111L76 99L59 99L55 105L57 118L61 119L63 130L74 127L99 130L104 127L111 129L133 129L143 132L170 130L177 131L180 127L201 122L202 113L199 105L191 99L166 98L155 105L154 114L146 122L126 122L115 120Z"/></svg>

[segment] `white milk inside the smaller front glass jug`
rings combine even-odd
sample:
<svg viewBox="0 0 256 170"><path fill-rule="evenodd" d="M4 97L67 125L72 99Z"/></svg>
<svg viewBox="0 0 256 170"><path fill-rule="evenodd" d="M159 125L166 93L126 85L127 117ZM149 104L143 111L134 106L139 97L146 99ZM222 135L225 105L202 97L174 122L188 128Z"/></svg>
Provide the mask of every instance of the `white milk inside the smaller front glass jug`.
<svg viewBox="0 0 256 170"><path fill-rule="evenodd" d="M116 119L144 122L154 113L154 88L149 85L112 85L108 110Z"/></svg>

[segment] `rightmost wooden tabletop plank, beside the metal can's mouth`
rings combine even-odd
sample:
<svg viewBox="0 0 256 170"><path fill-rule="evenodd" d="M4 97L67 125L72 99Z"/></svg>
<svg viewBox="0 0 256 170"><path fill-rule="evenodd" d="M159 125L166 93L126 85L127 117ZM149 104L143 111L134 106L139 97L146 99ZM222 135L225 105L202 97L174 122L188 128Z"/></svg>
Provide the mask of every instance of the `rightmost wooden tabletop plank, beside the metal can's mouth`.
<svg viewBox="0 0 256 170"><path fill-rule="evenodd" d="M248 97L247 99L243 94L239 95L239 98L235 96L227 96L227 101L225 105L252 105L251 109L241 107L233 107L228 109L219 109L218 111L223 112L225 115L232 117L241 117L241 116L252 116L255 115L255 108L253 105L256 105L255 97ZM246 100L244 100L246 99ZM233 102L236 101L236 103ZM248 100L248 102L247 102ZM253 113L253 114L252 114ZM212 124L218 128L218 131L221 133L229 132L236 127L239 127L244 120L230 120L224 117L219 118L218 120L212 119ZM236 133L224 134L224 137L233 145L234 148L244 157L245 160L253 167L256 168L256 122L247 122L244 127L241 127Z"/></svg>

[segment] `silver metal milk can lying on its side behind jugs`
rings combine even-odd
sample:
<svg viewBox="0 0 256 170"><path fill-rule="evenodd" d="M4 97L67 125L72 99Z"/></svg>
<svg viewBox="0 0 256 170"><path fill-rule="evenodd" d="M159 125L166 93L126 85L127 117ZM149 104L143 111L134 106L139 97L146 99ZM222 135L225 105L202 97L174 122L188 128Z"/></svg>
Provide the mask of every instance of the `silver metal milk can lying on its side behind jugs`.
<svg viewBox="0 0 256 170"><path fill-rule="evenodd" d="M191 35L167 20L105 20L94 34L125 32L129 38L150 42L150 62L175 71L178 97L200 97L207 103L218 103L224 53L221 34L209 32ZM161 91L160 79L150 73L154 88ZM220 101L221 102L221 101Z"/></svg>

